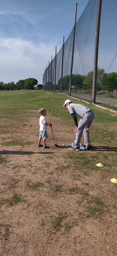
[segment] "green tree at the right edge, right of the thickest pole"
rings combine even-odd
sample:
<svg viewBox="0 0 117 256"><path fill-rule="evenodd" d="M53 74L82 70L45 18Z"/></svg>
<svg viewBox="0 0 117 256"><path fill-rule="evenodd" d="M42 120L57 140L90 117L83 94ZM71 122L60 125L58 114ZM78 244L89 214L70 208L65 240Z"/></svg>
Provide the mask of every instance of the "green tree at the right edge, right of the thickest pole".
<svg viewBox="0 0 117 256"><path fill-rule="evenodd" d="M104 89L107 89L110 92L112 91L112 97L113 97L113 91L114 89L117 89L117 72L112 73L104 73L101 79L101 85Z"/></svg>

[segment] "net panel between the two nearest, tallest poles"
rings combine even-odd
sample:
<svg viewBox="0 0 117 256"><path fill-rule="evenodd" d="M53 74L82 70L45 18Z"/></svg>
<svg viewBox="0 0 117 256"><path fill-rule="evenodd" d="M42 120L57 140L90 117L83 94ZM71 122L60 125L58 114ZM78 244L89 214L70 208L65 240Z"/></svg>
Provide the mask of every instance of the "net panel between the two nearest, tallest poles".
<svg viewBox="0 0 117 256"><path fill-rule="evenodd" d="M93 69L98 1L89 1L76 23L73 73L87 74Z"/></svg>

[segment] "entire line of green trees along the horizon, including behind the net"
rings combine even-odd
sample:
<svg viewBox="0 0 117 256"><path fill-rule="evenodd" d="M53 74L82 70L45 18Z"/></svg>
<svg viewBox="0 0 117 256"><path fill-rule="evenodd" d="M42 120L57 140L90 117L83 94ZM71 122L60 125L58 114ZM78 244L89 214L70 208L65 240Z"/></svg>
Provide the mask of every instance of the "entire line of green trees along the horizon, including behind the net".
<svg viewBox="0 0 117 256"><path fill-rule="evenodd" d="M72 89L76 90L90 90L93 87L93 71L90 71L87 75L82 74L72 74ZM62 91L69 90L69 80L70 75L66 75L62 79ZM48 88L49 84L49 88ZM61 78L58 80L56 84L56 89L60 89ZM37 79L35 78L27 78L23 80L19 80L16 84L11 81L8 83L0 82L0 90L19 90L19 89L41 89L43 87L42 84L38 84ZM45 84L45 89L50 90L51 82L47 82ZM52 90L54 89L54 84L52 84ZM112 92L111 96L113 96L113 91L117 89L117 72L106 73L104 68L97 69L97 87L96 90L99 91L101 89L105 89Z"/></svg>

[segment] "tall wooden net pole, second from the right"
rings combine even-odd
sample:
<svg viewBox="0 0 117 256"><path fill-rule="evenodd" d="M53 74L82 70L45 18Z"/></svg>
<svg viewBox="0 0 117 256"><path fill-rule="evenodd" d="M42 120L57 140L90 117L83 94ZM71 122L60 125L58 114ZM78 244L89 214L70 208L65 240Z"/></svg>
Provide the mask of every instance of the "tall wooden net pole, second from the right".
<svg viewBox="0 0 117 256"><path fill-rule="evenodd" d="M73 33L73 45L72 45L72 59L71 59L71 71L70 71L70 83L69 83L69 96L71 96L71 85L72 85L72 68L73 68L73 58L74 58L74 42L75 42L75 28L76 28L76 13L77 13L77 3L76 3L75 20L74 20L74 33Z"/></svg>

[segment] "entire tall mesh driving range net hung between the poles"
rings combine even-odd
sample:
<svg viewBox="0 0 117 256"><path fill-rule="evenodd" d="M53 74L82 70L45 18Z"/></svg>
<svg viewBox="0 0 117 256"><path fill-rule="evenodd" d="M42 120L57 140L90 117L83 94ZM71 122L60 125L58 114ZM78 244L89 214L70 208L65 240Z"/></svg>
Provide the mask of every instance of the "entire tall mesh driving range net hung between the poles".
<svg viewBox="0 0 117 256"><path fill-rule="evenodd" d="M78 10L77 10L78 11ZM89 0L76 22L73 69L74 74L87 75L94 69L95 36L98 0ZM64 43L63 77L70 75L74 27ZM56 54L56 90L60 90L63 46ZM98 66L117 71L117 0L102 0ZM49 72L49 81L48 81ZM52 79L51 79L52 73ZM49 88L48 88L49 83ZM44 88L54 91L55 57L44 73Z"/></svg>

